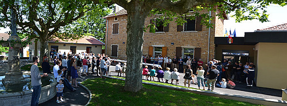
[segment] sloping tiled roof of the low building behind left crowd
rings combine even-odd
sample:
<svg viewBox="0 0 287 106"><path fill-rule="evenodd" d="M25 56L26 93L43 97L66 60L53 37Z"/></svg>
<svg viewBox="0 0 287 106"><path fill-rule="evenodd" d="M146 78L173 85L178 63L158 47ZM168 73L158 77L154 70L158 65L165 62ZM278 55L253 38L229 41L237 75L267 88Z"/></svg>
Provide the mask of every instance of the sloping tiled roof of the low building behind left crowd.
<svg viewBox="0 0 287 106"><path fill-rule="evenodd" d="M97 40L92 36L85 36L84 38L79 40L69 40L69 41L57 40L56 38L54 38L53 40L49 41L49 43L105 45L105 43Z"/></svg>

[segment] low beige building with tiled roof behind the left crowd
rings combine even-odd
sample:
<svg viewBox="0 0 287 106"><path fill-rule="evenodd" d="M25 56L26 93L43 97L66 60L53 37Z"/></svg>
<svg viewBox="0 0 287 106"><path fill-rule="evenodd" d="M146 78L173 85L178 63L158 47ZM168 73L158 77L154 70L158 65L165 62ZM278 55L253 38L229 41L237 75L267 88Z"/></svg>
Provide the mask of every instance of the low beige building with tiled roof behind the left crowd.
<svg viewBox="0 0 287 106"><path fill-rule="evenodd" d="M40 42L37 44L37 55L39 56L40 54ZM102 53L102 46L105 45L103 42L97 40L96 38L92 36L85 36L79 40L70 40L70 41L48 41L48 49L49 52L51 50L56 50L58 52L61 52L64 54L68 54L70 50L72 50L72 53L81 53L81 52L86 52L86 53ZM30 45L31 54L33 55L35 52L35 43Z"/></svg>

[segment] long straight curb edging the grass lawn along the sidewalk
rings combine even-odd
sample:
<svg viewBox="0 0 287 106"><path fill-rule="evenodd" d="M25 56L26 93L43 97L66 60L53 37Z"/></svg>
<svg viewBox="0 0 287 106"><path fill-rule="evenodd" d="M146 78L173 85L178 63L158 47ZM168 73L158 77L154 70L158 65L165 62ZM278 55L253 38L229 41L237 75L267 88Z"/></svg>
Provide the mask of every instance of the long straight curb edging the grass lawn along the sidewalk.
<svg viewBox="0 0 287 106"><path fill-rule="evenodd" d="M126 79L116 78L116 77L111 77L111 76L105 76L105 77L111 78L111 79L126 80ZM220 92L213 92L213 91L202 91L202 90L197 90L197 89L188 89L188 88L167 86L167 85L154 84L154 83L148 83L148 82L143 82L143 84L159 86L159 87L172 89L172 90L178 90L178 91L188 91L192 93L197 93L197 94L202 94L202 95L207 95L207 96L215 96L215 97L231 99L231 100L236 100L236 101L248 102L252 104L267 105L267 106L287 106L287 101L283 101L283 100L265 99L265 98L259 98L259 97L234 95L230 93L220 93Z"/></svg>

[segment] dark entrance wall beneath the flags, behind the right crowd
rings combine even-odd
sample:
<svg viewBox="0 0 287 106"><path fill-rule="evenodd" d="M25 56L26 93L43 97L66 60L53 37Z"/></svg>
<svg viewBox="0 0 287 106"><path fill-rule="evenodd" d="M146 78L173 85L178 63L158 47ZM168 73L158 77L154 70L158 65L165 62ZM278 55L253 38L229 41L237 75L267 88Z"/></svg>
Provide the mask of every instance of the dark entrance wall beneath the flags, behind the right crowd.
<svg viewBox="0 0 287 106"><path fill-rule="evenodd" d="M227 41L226 41L227 42ZM249 51L250 61L254 62L254 45L217 45L215 47L215 59L222 60L222 50L246 50ZM245 64L245 63L244 63Z"/></svg>

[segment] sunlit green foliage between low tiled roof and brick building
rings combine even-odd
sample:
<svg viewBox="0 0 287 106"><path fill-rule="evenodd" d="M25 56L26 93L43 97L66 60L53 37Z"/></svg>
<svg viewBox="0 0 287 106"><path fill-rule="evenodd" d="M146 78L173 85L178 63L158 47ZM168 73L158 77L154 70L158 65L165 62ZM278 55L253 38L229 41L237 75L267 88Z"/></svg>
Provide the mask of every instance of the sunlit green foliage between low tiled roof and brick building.
<svg viewBox="0 0 287 106"><path fill-rule="evenodd" d="M86 12L83 17L72 22L72 24L63 27L61 31L75 35L93 36L105 42L106 19L102 17L111 13L112 6L108 6L107 4L88 6L91 6L90 11Z"/></svg>

